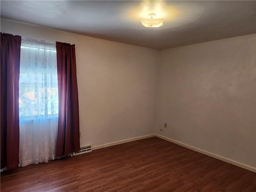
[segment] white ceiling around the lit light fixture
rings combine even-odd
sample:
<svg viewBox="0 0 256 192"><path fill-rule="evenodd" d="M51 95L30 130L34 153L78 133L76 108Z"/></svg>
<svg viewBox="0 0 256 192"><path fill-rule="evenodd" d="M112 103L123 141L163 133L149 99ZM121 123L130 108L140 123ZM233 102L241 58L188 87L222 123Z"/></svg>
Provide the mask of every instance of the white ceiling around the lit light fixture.
<svg viewBox="0 0 256 192"><path fill-rule="evenodd" d="M147 48L256 33L256 1L0 1L1 18ZM164 26L145 28L158 12Z"/></svg>

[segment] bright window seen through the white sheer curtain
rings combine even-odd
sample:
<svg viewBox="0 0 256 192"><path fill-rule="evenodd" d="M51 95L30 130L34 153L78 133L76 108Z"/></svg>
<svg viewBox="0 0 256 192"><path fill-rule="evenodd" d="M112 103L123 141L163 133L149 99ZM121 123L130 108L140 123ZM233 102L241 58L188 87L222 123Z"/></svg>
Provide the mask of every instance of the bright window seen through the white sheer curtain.
<svg viewBox="0 0 256 192"><path fill-rule="evenodd" d="M58 114L56 45L24 40L20 50L19 116Z"/></svg>

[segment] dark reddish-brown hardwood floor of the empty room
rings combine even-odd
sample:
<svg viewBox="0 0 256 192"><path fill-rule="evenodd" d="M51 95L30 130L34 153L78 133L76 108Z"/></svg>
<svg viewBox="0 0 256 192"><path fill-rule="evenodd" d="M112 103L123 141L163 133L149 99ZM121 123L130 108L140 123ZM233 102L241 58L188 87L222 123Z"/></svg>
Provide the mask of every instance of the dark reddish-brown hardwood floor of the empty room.
<svg viewBox="0 0 256 192"><path fill-rule="evenodd" d="M256 192L256 173L147 138L1 173L1 192Z"/></svg>

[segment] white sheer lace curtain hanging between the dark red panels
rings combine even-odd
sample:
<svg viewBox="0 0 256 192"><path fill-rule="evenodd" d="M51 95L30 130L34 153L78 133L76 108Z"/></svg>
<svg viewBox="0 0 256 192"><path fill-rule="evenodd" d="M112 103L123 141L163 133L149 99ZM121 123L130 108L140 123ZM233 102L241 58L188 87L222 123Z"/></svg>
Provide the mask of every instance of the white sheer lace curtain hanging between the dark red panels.
<svg viewBox="0 0 256 192"><path fill-rule="evenodd" d="M55 44L22 39L19 113L20 166L53 160L58 128Z"/></svg>

